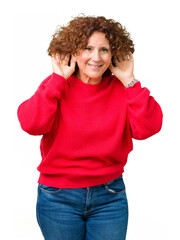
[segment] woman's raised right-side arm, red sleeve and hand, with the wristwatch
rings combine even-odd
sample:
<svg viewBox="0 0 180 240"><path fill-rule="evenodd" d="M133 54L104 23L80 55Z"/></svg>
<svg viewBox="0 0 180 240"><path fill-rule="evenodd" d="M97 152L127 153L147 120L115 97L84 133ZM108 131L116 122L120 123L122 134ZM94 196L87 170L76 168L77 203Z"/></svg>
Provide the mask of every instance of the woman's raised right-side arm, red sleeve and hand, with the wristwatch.
<svg viewBox="0 0 180 240"><path fill-rule="evenodd" d="M133 87L126 88L135 80L134 58L131 52L115 61L115 64L116 66L110 65L110 70L125 86L132 137L146 139L160 131L162 110L155 99L150 96L149 90L141 87L140 82Z"/></svg>

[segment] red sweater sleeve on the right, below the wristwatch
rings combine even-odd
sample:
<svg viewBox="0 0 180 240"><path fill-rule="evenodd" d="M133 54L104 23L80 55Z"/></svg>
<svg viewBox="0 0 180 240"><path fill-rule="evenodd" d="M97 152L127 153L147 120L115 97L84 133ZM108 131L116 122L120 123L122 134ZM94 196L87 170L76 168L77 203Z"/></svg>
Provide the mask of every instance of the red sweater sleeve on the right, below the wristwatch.
<svg viewBox="0 0 180 240"><path fill-rule="evenodd" d="M150 91L142 88L140 82L125 91L132 137L142 140L158 133L162 127L163 114L159 104L150 96Z"/></svg>

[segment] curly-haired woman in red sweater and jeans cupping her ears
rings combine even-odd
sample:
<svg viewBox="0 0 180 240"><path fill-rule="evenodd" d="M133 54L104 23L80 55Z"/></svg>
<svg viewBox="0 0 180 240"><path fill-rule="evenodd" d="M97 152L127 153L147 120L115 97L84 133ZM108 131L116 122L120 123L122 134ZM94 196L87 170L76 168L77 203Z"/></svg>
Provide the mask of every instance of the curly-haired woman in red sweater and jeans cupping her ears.
<svg viewBox="0 0 180 240"><path fill-rule="evenodd" d="M159 132L162 111L134 76L134 44L104 17L77 17L48 48L53 73L18 109L43 135L37 220L46 240L124 240L123 182L132 138Z"/></svg>

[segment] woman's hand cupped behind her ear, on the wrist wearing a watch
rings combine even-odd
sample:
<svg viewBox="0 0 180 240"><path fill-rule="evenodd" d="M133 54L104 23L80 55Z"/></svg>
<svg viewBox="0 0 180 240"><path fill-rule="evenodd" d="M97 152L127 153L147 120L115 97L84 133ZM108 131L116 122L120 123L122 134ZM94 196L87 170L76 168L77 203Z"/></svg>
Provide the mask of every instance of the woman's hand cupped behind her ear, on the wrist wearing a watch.
<svg viewBox="0 0 180 240"><path fill-rule="evenodd" d="M126 86L135 80L134 77L134 58L131 52L121 59L114 59L115 66L111 63L109 69Z"/></svg>

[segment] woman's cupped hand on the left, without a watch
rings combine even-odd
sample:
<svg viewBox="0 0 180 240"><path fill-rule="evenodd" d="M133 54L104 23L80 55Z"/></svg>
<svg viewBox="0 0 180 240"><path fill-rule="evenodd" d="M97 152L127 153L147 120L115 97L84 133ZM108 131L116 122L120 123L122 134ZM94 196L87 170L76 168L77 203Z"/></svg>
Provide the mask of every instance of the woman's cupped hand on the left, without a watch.
<svg viewBox="0 0 180 240"><path fill-rule="evenodd" d="M68 65L70 59L70 54L64 56L59 53L52 54L51 63L53 72L59 74L60 76L68 79L75 71L76 58L71 56L70 66Z"/></svg>

